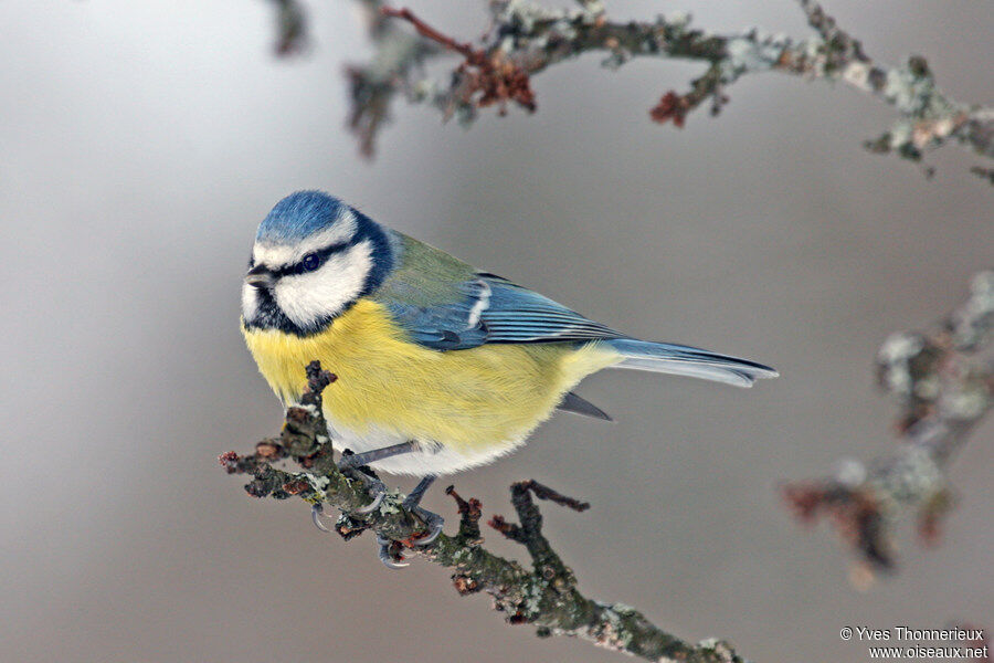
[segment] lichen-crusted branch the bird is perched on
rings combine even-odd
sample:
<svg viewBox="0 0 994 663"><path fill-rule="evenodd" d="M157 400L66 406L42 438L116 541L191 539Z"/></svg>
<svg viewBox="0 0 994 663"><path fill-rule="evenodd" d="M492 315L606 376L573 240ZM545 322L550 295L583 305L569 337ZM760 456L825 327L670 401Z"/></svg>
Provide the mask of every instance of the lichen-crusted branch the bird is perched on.
<svg viewBox="0 0 994 663"><path fill-rule="evenodd" d="M495 610L512 624L532 624L540 636L571 635L609 650L651 661L685 663L739 663L744 661L721 641L707 640L690 644L666 633L634 608L622 603L601 603L580 593L577 578L542 533L542 516L533 497L583 511L586 504L565 497L533 481L511 486L511 504L518 523L494 516L490 525L507 538L520 543L531 557L531 568L504 559L483 547L479 519L480 503L463 499L452 487L461 522L455 536L440 535L432 544L420 547L417 539L426 526L417 515L402 505L403 495L387 494L370 513L361 513L373 502L367 483L349 471L338 470L332 456L327 424L321 414L321 392L335 381L318 362L307 367L308 389L300 404L286 412L279 438L256 444L255 453L240 456L235 452L221 455L221 464L230 474L251 474L245 486L255 497L286 499L296 495L320 506L339 509L338 533L350 539L367 529L392 541L394 556L415 555L453 569L453 585L461 594L486 591ZM300 470L289 472L273 466L293 460Z"/></svg>

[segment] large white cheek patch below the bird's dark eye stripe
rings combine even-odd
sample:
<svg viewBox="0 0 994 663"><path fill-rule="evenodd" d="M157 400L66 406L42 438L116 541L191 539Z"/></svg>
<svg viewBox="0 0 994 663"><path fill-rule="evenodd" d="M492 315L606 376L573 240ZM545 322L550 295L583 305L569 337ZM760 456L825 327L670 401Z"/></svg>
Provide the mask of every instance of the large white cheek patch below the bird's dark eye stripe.
<svg viewBox="0 0 994 663"><path fill-rule="evenodd" d="M319 270L284 276L276 284L276 302L297 326L309 327L341 313L362 292L372 267L371 246L358 244L330 257Z"/></svg>

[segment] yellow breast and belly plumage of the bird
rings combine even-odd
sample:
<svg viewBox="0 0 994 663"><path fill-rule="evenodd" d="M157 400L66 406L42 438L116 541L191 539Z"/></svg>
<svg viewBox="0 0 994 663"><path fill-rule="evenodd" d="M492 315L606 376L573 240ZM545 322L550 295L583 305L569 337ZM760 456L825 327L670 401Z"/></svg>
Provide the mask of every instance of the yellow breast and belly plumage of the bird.
<svg viewBox="0 0 994 663"><path fill-rule="evenodd" d="M325 411L336 425L359 435L389 431L462 453L519 442L577 382L620 360L593 343L432 350L410 341L369 299L306 338L273 329L243 333L284 403L299 398L304 367L317 359L338 376L325 391Z"/></svg>

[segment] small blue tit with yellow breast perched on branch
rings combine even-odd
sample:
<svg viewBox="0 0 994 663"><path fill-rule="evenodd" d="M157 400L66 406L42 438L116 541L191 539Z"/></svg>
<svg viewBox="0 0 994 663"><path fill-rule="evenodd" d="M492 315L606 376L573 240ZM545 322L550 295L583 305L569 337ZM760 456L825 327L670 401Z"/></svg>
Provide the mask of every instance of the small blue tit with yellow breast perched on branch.
<svg viewBox="0 0 994 663"><path fill-rule="evenodd" d="M324 414L336 451L352 453L341 463L421 477L405 502L419 509L435 477L510 453L557 410L610 419L572 391L599 370L737 387L778 376L616 332L316 190L287 196L260 223L241 309L247 348L283 406L319 360L338 378Z"/></svg>

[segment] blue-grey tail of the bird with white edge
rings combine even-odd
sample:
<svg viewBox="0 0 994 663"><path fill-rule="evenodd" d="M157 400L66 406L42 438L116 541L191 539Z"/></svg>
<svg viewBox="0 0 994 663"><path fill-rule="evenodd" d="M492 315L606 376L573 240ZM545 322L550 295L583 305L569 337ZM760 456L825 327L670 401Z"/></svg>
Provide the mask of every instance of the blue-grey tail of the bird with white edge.
<svg viewBox="0 0 994 663"><path fill-rule="evenodd" d="M607 345L624 357L614 368L689 376L736 387L752 387L757 378L775 378L780 375L769 366L755 361L670 343L618 338L607 341Z"/></svg>

